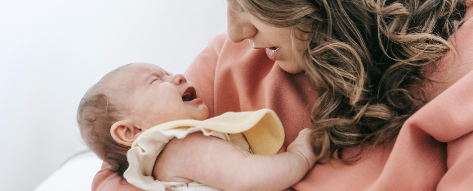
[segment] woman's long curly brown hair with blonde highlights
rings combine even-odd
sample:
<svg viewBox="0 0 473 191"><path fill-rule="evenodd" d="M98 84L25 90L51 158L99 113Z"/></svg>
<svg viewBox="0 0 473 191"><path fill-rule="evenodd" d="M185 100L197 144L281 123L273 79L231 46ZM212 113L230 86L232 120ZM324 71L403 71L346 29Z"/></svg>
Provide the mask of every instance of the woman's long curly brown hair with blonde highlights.
<svg viewBox="0 0 473 191"><path fill-rule="evenodd" d="M393 140L428 102L421 82L435 80L437 61L454 51L446 39L466 9L464 0L237 1L262 22L309 37L301 64L320 94L313 150L345 163L362 150L343 149Z"/></svg>

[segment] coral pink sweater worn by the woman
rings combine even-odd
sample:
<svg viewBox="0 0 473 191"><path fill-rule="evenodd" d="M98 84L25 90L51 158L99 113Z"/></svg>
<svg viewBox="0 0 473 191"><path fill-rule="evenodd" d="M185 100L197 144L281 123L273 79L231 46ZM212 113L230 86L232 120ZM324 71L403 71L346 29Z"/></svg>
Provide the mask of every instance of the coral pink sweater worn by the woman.
<svg viewBox="0 0 473 191"><path fill-rule="evenodd" d="M426 84L433 99L404 124L390 144L366 152L352 165L317 164L296 190L471 190L473 189L473 19L450 38L458 56L447 53L437 78ZM225 34L211 39L185 76L203 92L210 116L225 112L274 110L286 134L283 149L310 127L317 92L303 73L284 72L247 41L230 42ZM453 84L453 85L452 85ZM447 89L448 88L448 89ZM354 148L358 149L358 148ZM350 152L348 150L347 152ZM141 190L107 170L96 174L92 190Z"/></svg>

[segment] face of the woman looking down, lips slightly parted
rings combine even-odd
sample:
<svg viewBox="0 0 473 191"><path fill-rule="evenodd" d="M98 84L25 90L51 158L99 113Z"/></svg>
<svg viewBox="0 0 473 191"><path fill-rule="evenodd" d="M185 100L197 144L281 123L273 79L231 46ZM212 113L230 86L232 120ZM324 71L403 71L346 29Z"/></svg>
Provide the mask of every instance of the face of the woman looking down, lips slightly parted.
<svg viewBox="0 0 473 191"><path fill-rule="evenodd" d="M227 33L230 41L238 43L248 39L253 48L266 49L268 57L277 60L284 71L299 73L304 70L300 62L305 59L303 55L308 41L299 40L302 35L300 31L295 30L297 38L291 38L289 28L277 28L257 20L242 11L236 0L227 0L227 4Z"/></svg>

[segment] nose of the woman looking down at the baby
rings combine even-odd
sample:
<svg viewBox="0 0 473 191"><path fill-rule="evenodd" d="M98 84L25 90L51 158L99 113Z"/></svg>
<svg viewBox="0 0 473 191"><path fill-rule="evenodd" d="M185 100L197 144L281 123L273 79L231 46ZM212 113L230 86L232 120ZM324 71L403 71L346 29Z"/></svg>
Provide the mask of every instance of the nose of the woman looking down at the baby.
<svg viewBox="0 0 473 191"><path fill-rule="evenodd" d="M237 13L228 8L227 10L227 35L231 42L239 43L256 35L258 30L248 22L242 13Z"/></svg>

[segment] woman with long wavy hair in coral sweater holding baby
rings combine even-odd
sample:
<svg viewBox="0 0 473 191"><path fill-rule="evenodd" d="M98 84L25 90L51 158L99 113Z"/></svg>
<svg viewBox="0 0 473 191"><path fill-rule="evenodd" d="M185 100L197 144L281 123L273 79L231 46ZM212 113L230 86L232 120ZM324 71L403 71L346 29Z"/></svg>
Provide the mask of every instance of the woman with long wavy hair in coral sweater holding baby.
<svg viewBox="0 0 473 191"><path fill-rule="evenodd" d="M284 148L312 127L320 162L294 189L473 188L470 1L227 3L228 35L185 75L209 117L274 110ZM139 189L104 166L93 190Z"/></svg>

